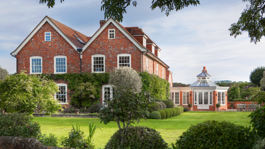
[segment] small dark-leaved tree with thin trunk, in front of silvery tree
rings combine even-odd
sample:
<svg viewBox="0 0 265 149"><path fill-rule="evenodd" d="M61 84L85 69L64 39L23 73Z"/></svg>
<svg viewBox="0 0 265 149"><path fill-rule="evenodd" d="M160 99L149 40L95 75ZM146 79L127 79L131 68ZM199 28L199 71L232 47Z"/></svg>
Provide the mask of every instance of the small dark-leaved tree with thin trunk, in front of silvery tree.
<svg viewBox="0 0 265 149"><path fill-rule="evenodd" d="M135 93L131 88L121 87L116 91L116 96L104 103L105 107L101 108L100 123L108 124L110 121L116 121L121 133L125 136L130 123L135 124L134 121L138 123L141 118L147 119L144 116L144 110L147 110L150 102L149 92Z"/></svg>

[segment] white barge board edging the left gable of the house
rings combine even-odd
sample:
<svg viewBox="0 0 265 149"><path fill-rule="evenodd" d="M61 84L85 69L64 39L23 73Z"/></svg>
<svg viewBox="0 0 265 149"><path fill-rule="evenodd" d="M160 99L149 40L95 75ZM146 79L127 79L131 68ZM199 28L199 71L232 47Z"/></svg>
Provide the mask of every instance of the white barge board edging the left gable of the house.
<svg viewBox="0 0 265 149"><path fill-rule="evenodd" d="M67 37L65 34L46 16L38 25L37 27L29 34L29 36L16 48L14 52L11 53L11 55L17 55L17 53L28 43L28 41L34 36L35 33L38 32L38 30L42 27L44 23L51 24L51 26L61 35L63 38L75 49L77 50L76 45ZM44 34L43 34L44 36Z"/></svg>

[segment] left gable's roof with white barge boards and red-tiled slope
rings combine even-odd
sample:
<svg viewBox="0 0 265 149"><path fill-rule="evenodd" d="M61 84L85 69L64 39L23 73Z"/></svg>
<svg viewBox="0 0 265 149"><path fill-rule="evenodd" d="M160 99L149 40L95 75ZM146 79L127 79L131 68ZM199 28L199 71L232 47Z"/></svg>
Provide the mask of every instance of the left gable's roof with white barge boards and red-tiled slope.
<svg viewBox="0 0 265 149"><path fill-rule="evenodd" d="M82 41L87 41L87 36L85 36L84 34L77 32L76 30L67 27L66 25L48 16L45 16L42 21L33 29L33 31L27 36L27 38L25 38L25 40L16 48L16 50L11 52L11 54L16 55L46 22L48 22L75 50L82 48L83 44L78 41L76 37L74 37L74 34L78 36Z"/></svg>

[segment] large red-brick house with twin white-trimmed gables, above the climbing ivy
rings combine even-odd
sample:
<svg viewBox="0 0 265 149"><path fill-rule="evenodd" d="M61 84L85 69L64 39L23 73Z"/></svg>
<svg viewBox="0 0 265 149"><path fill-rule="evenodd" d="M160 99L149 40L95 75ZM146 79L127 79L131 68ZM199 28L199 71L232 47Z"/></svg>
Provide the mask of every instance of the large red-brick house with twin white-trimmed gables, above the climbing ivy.
<svg viewBox="0 0 265 149"><path fill-rule="evenodd" d="M109 18L100 20L100 28L88 37L45 16L28 37L11 53L17 60L17 72L39 73L104 73L116 67L147 71L168 80L172 86L169 66L160 59L161 49L139 27L123 27ZM61 104L70 103L68 82L55 81ZM107 100L111 86L101 87L100 101Z"/></svg>

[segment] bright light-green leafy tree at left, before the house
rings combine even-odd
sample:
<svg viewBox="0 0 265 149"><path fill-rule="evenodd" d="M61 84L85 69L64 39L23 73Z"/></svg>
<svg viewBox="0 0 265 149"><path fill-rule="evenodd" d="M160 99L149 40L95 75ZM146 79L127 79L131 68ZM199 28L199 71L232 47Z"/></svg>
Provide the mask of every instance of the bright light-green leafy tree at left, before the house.
<svg viewBox="0 0 265 149"><path fill-rule="evenodd" d="M58 92L56 83L25 72L0 80L0 107L7 112L33 114L36 107L40 107L45 115L57 113L62 106L54 98Z"/></svg>

